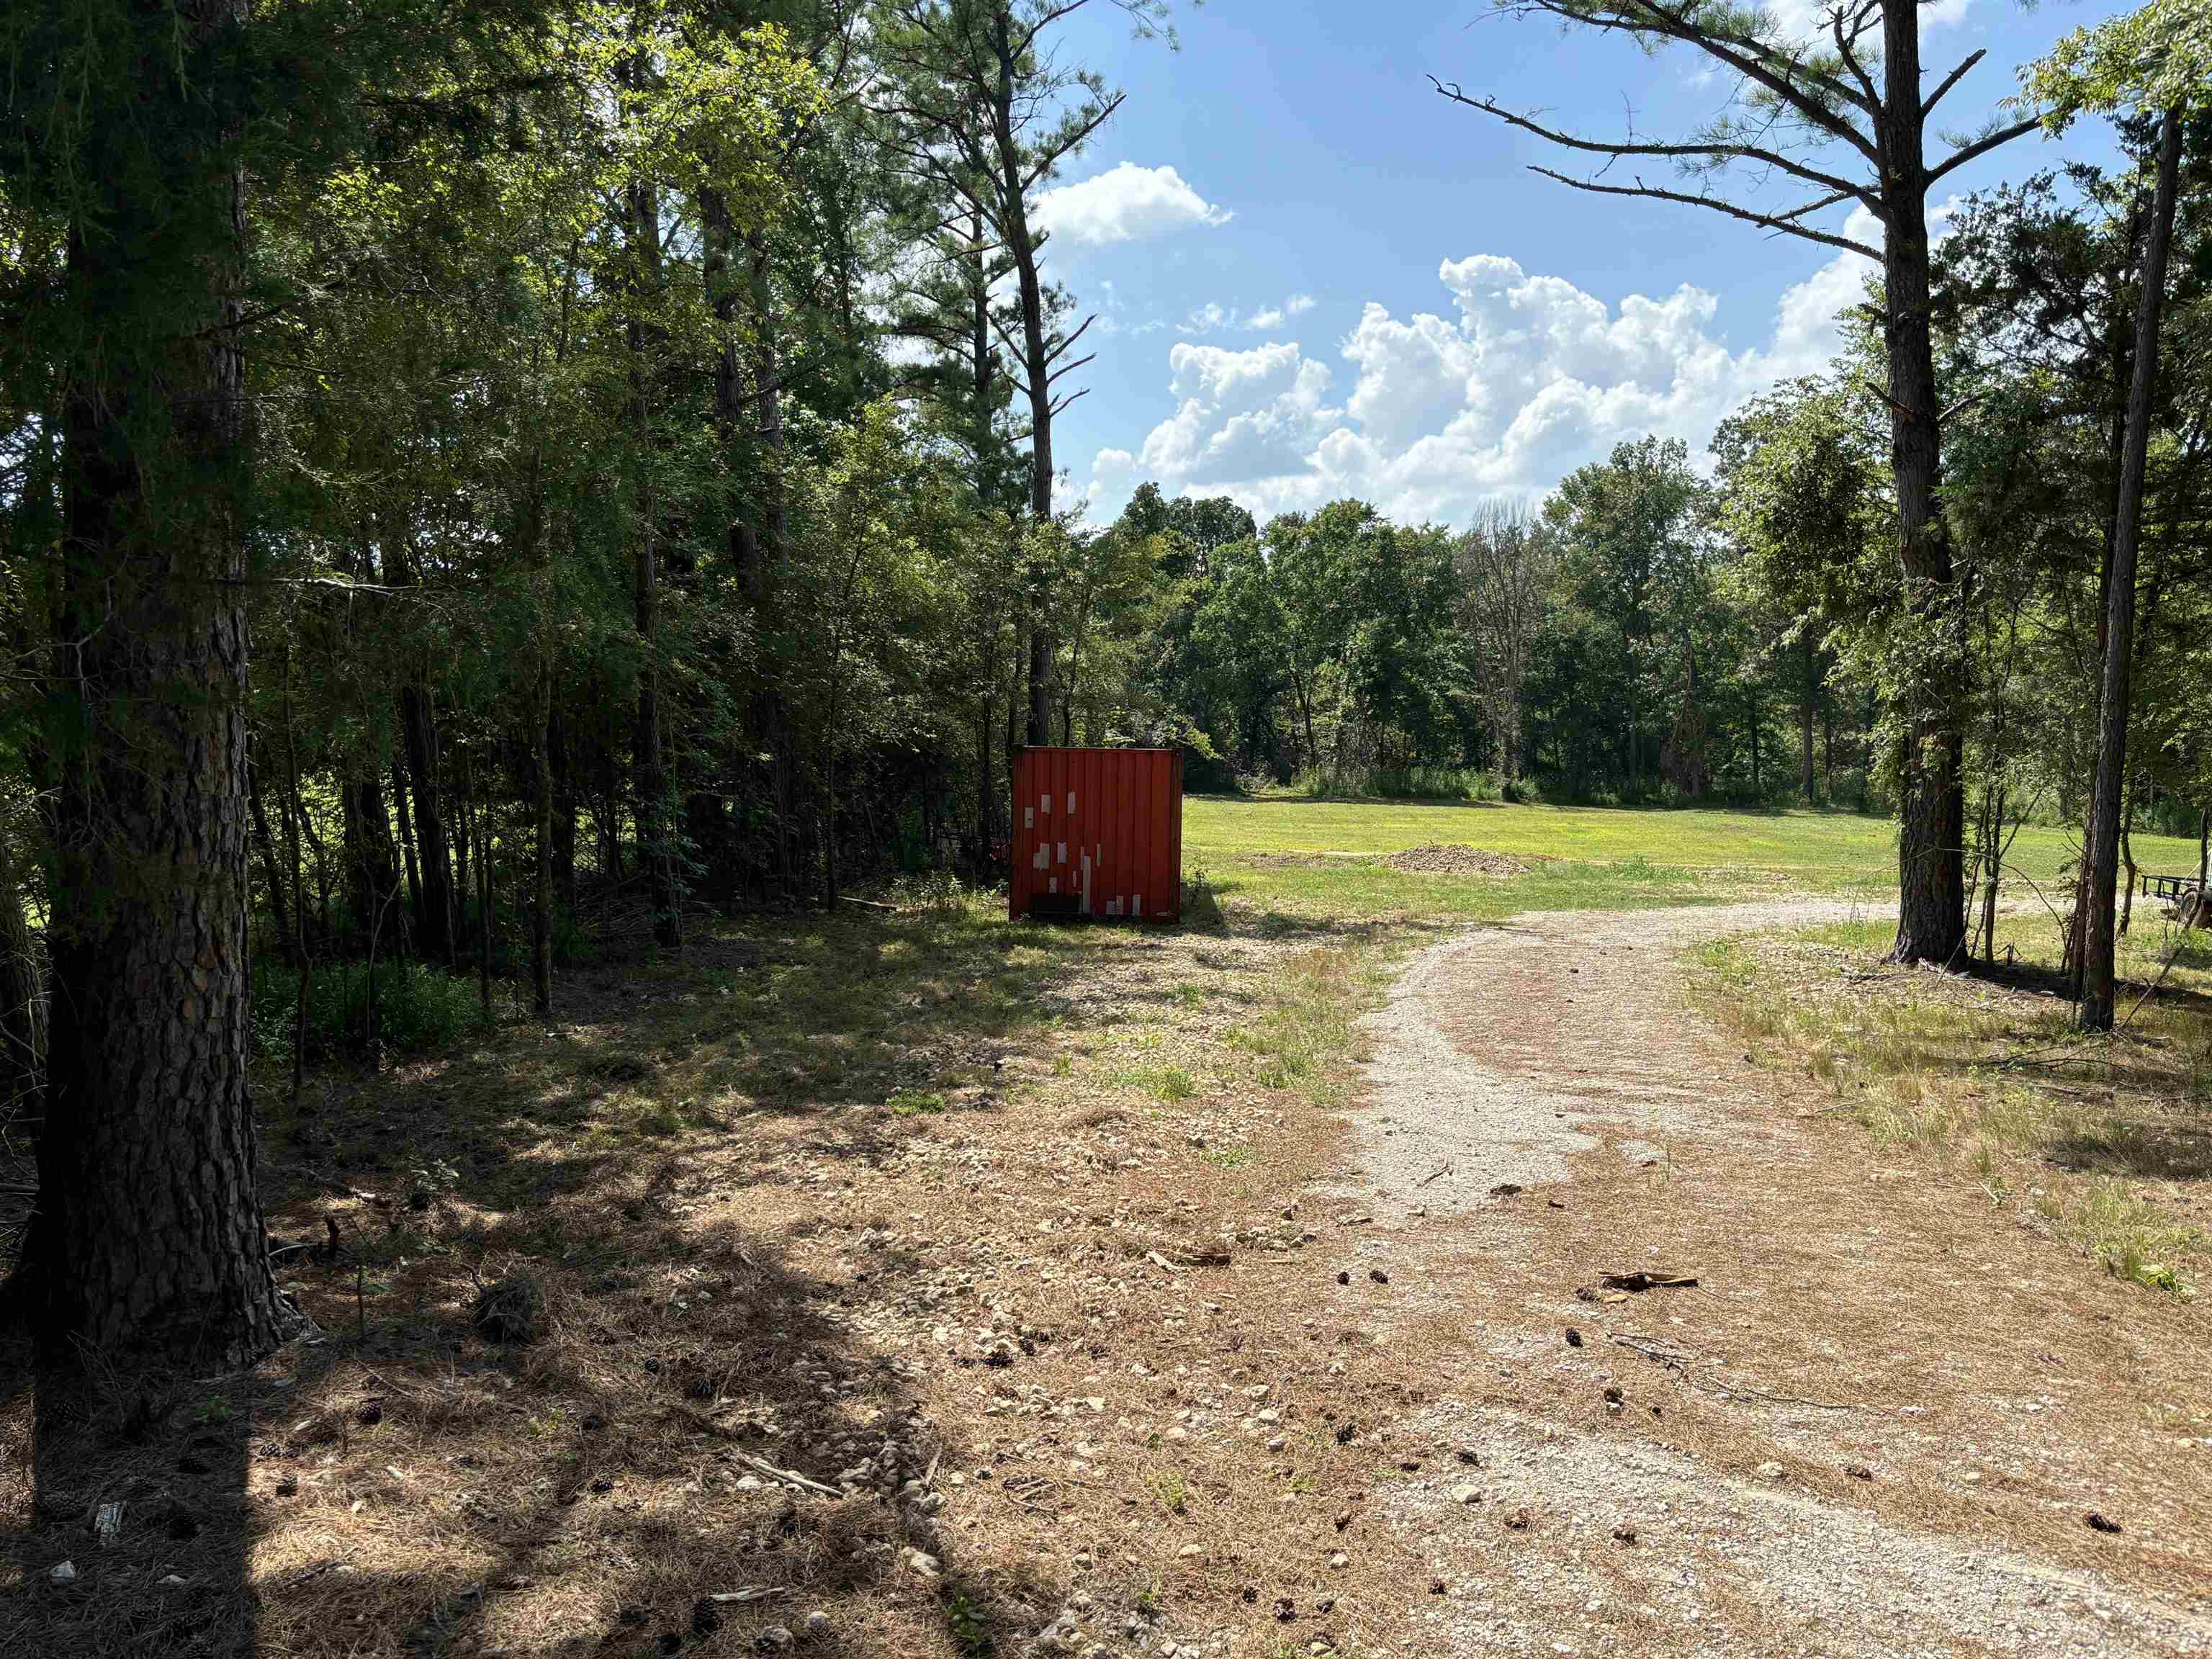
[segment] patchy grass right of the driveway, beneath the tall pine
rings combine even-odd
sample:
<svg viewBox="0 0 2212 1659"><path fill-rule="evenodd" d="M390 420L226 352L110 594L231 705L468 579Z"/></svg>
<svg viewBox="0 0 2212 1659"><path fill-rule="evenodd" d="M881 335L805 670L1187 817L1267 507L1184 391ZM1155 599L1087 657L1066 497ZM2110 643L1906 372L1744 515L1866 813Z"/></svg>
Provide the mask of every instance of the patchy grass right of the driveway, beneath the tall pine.
<svg viewBox="0 0 2212 1659"><path fill-rule="evenodd" d="M1889 1150L1973 1175L2119 1279L2192 1294L2212 1239L2185 1212L2212 1183L2212 938L2137 914L2112 1037L2075 1031L2042 916L2002 918L2002 975L1880 967L1887 920L1694 951L1697 1000L1761 1064L1825 1082Z"/></svg>

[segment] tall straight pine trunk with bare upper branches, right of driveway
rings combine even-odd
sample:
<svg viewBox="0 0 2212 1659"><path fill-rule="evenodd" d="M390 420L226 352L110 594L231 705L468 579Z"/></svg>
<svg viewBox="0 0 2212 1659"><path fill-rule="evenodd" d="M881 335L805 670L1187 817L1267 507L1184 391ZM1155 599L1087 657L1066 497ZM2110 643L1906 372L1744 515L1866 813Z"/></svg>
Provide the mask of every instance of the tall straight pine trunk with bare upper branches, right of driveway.
<svg viewBox="0 0 2212 1659"><path fill-rule="evenodd" d="M1964 869L1964 650L1951 542L1942 522L1942 409L1929 316L1927 164L1920 86L1920 13L1882 4L1882 106L1878 124L1882 195L1885 336L1889 347L1889 442L1898 484L1898 562L1907 606L1920 624L1916 661L1900 695L1907 708L1905 779L1898 803L1896 962L1951 962L1966 945Z"/></svg>

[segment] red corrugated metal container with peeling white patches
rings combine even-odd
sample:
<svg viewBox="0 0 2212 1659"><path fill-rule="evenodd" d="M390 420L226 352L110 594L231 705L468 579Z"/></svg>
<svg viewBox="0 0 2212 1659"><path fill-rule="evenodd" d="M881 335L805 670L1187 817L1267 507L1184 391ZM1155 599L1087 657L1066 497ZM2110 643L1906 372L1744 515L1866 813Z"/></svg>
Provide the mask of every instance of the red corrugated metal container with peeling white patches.
<svg viewBox="0 0 2212 1659"><path fill-rule="evenodd" d="M1183 914L1183 752L1022 750L1009 916Z"/></svg>

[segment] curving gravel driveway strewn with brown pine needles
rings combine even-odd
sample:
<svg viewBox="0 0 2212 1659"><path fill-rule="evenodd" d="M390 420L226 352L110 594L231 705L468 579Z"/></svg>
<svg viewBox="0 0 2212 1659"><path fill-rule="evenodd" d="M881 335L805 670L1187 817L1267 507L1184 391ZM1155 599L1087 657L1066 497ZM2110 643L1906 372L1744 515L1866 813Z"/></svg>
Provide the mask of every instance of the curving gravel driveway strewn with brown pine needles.
<svg viewBox="0 0 2212 1659"><path fill-rule="evenodd" d="M1336 1201L1460 1453L1389 1498L1436 1652L2212 1650L2203 1316L1683 1006L1694 940L1843 914L1535 916L1371 1020Z"/></svg>

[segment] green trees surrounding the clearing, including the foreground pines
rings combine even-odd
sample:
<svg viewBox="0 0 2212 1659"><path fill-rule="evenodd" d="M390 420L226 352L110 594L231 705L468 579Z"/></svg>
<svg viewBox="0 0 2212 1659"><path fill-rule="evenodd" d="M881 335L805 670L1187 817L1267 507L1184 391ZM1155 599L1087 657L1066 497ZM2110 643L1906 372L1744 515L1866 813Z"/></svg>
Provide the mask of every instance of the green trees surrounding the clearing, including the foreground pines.
<svg viewBox="0 0 2212 1659"><path fill-rule="evenodd" d="M1692 168L1568 184L1882 276L1845 361L1712 458L1624 445L1455 529L1060 498L1097 336L1040 201L1121 102L1071 27L1168 49L1164 0L0 18L20 1310L230 1358L294 1329L257 980L294 1086L334 987L361 1042L409 975L553 1013L564 960L684 949L717 905L989 872L1024 743L1179 743L1219 785L1896 803L1898 953L1938 962L1969 863L1995 878L2048 803L2086 823L2108 980L2104 847L2203 799L2199 9L2077 38L1936 161L1962 71L1924 84L1911 4L1843 4L1834 49L1723 7L1511 9L1705 53L1759 113L1674 146L1533 124ZM1953 168L2093 111L2128 166L1929 234ZM1717 195L1741 161L1882 246Z"/></svg>

